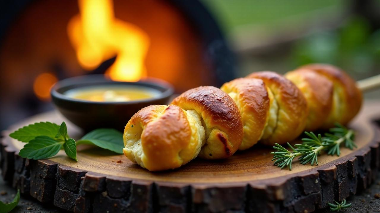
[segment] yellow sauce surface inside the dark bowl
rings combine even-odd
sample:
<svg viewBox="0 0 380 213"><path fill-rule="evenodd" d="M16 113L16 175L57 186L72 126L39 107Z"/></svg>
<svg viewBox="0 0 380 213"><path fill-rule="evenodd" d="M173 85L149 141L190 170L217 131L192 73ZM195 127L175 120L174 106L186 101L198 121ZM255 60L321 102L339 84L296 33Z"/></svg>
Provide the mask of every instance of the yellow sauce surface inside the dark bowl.
<svg viewBox="0 0 380 213"><path fill-rule="evenodd" d="M157 97L161 92L144 86L87 86L69 89L68 97L94 102L123 102Z"/></svg>

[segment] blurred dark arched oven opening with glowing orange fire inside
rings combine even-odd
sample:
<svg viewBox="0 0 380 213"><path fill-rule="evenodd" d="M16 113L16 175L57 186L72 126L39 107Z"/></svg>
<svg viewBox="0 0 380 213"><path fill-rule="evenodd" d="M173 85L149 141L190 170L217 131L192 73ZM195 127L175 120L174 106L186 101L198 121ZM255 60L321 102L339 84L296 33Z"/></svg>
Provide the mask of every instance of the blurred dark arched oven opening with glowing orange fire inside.
<svg viewBox="0 0 380 213"><path fill-rule="evenodd" d="M0 129L52 109L49 89L67 77L154 77L176 92L235 77L234 54L198 1L22 0L0 7Z"/></svg>

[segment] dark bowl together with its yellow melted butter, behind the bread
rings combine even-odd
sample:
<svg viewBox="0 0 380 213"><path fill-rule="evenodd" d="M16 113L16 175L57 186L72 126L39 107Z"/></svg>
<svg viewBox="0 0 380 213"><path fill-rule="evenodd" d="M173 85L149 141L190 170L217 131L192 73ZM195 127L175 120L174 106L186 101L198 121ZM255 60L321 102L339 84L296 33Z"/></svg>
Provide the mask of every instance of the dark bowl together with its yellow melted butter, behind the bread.
<svg viewBox="0 0 380 213"><path fill-rule="evenodd" d="M173 92L169 83L154 78L120 82L95 74L57 82L51 97L57 110L85 132L97 128L122 131L142 108L168 104Z"/></svg>

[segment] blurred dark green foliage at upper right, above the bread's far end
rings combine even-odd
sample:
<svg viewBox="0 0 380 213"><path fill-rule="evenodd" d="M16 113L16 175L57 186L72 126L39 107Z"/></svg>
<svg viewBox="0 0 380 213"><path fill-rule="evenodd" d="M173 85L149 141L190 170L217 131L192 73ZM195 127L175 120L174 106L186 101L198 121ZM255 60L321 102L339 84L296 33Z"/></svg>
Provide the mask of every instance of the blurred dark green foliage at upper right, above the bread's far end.
<svg viewBox="0 0 380 213"><path fill-rule="evenodd" d="M380 62L380 30L371 33L366 20L353 17L341 28L316 33L296 41L291 52L293 66L331 63L355 74L370 73Z"/></svg>

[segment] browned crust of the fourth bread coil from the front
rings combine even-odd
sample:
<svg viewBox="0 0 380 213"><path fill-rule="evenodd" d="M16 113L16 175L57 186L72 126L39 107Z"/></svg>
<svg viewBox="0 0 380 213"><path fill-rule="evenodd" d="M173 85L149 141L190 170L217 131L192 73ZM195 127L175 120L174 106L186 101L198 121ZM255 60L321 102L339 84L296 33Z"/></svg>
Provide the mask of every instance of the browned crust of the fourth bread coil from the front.
<svg viewBox="0 0 380 213"><path fill-rule="evenodd" d="M287 143L304 130L308 114L307 102L296 85L275 72L254 72L248 78L260 78L271 89L279 106L277 125L269 138L260 143L273 145Z"/></svg>

